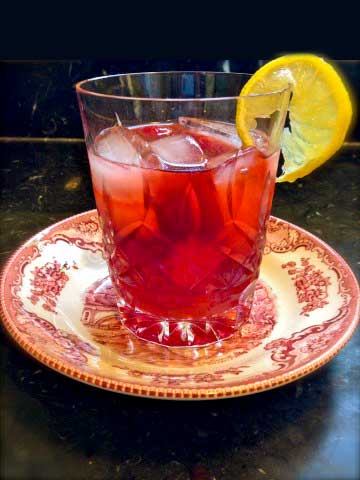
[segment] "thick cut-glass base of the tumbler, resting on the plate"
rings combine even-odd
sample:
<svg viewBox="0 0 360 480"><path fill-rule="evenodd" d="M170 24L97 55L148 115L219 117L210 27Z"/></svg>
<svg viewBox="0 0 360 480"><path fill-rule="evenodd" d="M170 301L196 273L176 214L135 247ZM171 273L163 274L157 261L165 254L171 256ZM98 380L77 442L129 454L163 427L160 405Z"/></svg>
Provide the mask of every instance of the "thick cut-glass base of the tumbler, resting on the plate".
<svg viewBox="0 0 360 480"><path fill-rule="evenodd" d="M200 347L234 335L248 319L250 305L206 319L159 319L118 304L122 324L141 340L167 347Z"/></svg>

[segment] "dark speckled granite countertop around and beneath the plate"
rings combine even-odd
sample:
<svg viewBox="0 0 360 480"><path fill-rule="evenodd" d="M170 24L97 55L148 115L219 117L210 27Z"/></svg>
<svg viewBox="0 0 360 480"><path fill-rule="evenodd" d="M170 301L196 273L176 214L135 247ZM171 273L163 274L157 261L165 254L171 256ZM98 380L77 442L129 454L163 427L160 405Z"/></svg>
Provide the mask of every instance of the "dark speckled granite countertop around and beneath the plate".
<svg viewBox="0 0 360 480"><path fill-rule="evenodd" d="M84 144L0 143L2 264L24 240L94 208ZM295 184L272 213L322 238L359 275L356 146ZM166 402L97 390L50 371L1 331L4 479L356 479L360 331L325 367L276 390Z"/></svg>

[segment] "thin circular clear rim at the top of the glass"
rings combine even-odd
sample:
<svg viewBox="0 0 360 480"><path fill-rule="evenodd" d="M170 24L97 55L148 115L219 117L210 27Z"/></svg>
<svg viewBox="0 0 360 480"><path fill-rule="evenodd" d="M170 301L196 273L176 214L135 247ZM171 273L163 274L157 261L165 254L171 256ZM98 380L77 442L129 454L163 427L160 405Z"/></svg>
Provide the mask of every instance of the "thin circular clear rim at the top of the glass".
<svg viewBox="0 0 360 480"><path fill-rule="evenodd" d="M233 76L243 76L248 77L249 79L253 74L251 73L241 73L241 72L221 72L221 71L210 71L210 70L160 70L160 71L151 71L151 72L133 72L133 73L116 73L114 75L101 75L99 77L91 77L85 80L81 80L75 84L75 89L77 93L83 95L91 95L93 97L99 98L108 98L108 99L117 99L117 100L141 100L141 101L150 101L150 102L214 102L214 101L225 101L225 100L238 100L239 98L256 98L256 97L267 97L270 95L279 95L291 89L290 83L278 90L265 92L265 93L253 93L251 95L230 95L230 96L221 96L221 97L189 97L189 98L176 98L176 97L139 97L139 96L128 96L128 95L112 95L109 93L100 93L93 92L91 90L86 90L84 84L94 82L96 80L105 80L108 78L115 77L126 77L126 76L140 76L140 75L159 75L159 74L212 74L212 75L233 75Z"/></svg>

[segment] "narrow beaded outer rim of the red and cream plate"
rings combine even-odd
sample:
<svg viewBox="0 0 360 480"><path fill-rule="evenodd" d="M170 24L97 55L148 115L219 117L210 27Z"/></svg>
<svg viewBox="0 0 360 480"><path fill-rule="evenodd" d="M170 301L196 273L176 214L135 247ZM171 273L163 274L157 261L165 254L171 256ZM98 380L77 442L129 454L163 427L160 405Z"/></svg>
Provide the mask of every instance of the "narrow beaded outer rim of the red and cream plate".
<svg viewBox="0 0 360 480"><path fill-rule="evenodd" d="M336 341L336 343L329 349L320 354L318 357L309 361L308 364L294 368L290 372L283 373L280 375L274 375L271 379L268 380L258 380L252 383L243 384L239 386L231 387L216 387L211 388L171 388L171 387L151 387L146 385L140 385L136 383L127 383L115 379L110 379L102 377L94 373L85 373L80 368L72 367L67 365L61 360L52 358L50 355L43 353L40 349L34 347L30 341L24 339L23 335L13 326L11 319L11 314L7 311L5 305L5 288L6 288L6 278L9 269L11 268L15 259L21 255L21 252L32 242L38 242L40 237L48 233L50 230L55 229L57 226L75 220L78 217L86 215L97 214L96 209L87 210L85 212L80 212L75 215L59 220L56 223L53 223L36 234L32 235L30 238L21 243L19 247L10 255L10 257L5 262L4 266L0 272L0 314L1 314L1 323L4 326L4 330L10 336L11 340L15 342L15 345L20 347L22 351L30 355L32 358L45 365L46 367L54 370L58 373L65 375L72 380L77 380L87 385L95 386L103 390L110 390L117 393L122 393L130 396L143 397L143 398L154 398L154 399L163 399L163 400L215 400L221 398L233 398L239 396L251 395L254 393L259 393L267 390L272 390L283 385L289 384L295 380L299 380L304 376L315 372L320 367L332 360L339 352L342 350L348 341L353 336L356 327L359 323L359 310L360 310L360 289L355 273L352 271L350 265L347 261L330 245L325 241L318 238L316 235L308 232L307 230L299 227L287 220L283 220L279 217L273 215L270 216L270 219L273 221L280 221L283 224L289 225L291 228L295 229L299 233L305 234L315 243L322 246L327 250L332 256L345 267L347 274L349 274L349 281L354 287L356 304L353 309L353 318L348 328L343 332L341 337ZM39 237L39 238L37 238Z"/></svg>

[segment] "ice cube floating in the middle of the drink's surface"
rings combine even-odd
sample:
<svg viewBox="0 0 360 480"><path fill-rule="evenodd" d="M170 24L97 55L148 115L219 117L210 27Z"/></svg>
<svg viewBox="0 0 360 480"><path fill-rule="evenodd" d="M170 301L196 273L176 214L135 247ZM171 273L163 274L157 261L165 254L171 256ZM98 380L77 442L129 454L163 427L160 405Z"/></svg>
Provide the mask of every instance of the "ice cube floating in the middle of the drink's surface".
<svg viewBox="0 0 360 480"><path fill-rule="evenodd" d="M166 169L199 168L207 163L200 145L190 135L160 138L151 143L151 149Z"/></svg>

